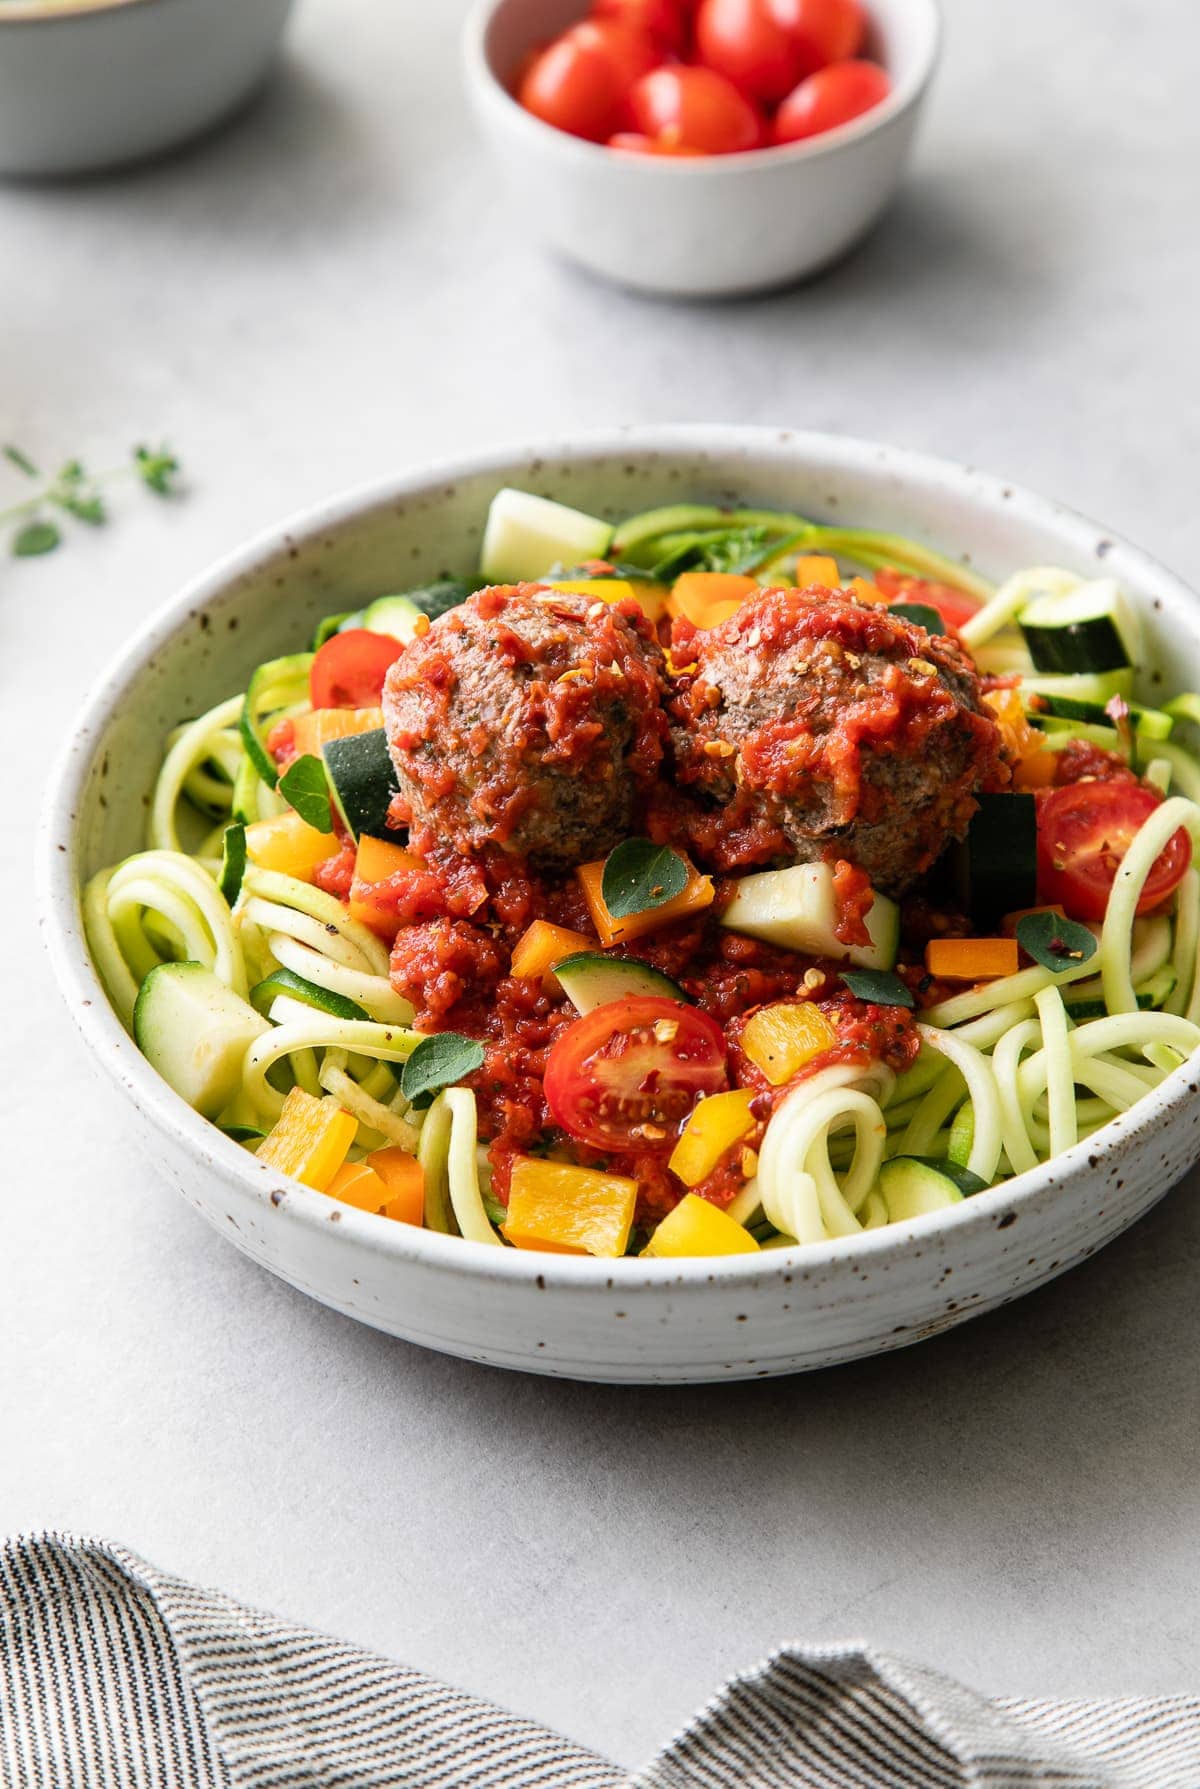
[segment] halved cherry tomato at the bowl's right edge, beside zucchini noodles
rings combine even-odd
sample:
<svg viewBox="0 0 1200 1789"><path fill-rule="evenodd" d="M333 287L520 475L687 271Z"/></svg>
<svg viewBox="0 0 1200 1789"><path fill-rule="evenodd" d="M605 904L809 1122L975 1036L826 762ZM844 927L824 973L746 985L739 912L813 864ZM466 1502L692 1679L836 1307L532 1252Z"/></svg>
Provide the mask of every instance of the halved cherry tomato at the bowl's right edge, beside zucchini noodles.
<svg viewBox="0 0 1200 1789"><path fill-rule="evenodd" d="M1071 920L1103 920L1121 859L1161 800L1139 782L1068 784L1039 796L1037 898L1064 907ZM1191 839L1180 827L1146 877L1137 912L1159 907L1189 862Z"/></svg>

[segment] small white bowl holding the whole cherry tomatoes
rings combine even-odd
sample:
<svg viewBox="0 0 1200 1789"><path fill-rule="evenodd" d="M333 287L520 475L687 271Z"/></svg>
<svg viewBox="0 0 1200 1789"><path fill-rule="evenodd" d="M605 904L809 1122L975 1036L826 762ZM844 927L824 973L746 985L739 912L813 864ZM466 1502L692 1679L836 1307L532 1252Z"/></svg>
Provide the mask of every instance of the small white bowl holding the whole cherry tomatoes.
<svg viewBox="0 0 1200 1789"><path fill-rule="evenodd" d="M477 0L467 86L520 229L622 286L731 297L819 272L900 184L941 45L937 0L869 0L892 93L837 131L742 156L637 156L554 131L511 97L522 59L587 0Z"/></svg>

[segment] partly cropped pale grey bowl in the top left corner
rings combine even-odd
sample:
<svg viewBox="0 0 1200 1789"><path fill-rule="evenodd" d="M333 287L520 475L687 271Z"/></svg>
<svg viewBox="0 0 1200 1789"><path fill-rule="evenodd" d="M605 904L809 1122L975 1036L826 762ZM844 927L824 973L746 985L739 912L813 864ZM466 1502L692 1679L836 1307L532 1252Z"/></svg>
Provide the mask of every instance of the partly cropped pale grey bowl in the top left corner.
<svg viewBox="0 0 1200 1789"><path fill-rule="evenodd" d="M0 0L0 175L93 174L263 82L292 0Z"/></svg>

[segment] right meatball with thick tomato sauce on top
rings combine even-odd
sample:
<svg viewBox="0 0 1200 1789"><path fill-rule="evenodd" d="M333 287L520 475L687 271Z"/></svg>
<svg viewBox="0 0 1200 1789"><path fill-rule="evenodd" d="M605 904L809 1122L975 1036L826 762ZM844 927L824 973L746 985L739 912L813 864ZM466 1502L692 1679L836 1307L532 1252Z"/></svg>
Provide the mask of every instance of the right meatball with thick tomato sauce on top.
<svg viewBox="0 0 1200 1789"><path fill-rule="evenodd" d="M903 894L1009 780L966 653L841 592L678 623L672 660L678 778L708 798L694 844L721 869L844 857Z"/></svg>

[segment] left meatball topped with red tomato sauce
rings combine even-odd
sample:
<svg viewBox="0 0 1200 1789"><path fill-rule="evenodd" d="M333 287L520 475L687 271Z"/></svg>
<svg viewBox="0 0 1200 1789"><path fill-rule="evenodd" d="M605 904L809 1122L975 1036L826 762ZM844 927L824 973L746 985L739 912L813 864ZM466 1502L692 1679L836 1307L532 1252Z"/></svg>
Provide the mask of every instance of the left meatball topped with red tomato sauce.
<svg viewBox="0 0 1200 1789"><path fill-rule="evenodd" d="M667 748L663 657L637 603L479 590L388 671L383 714L413 848L544 869L630 830Z"/></svg>

